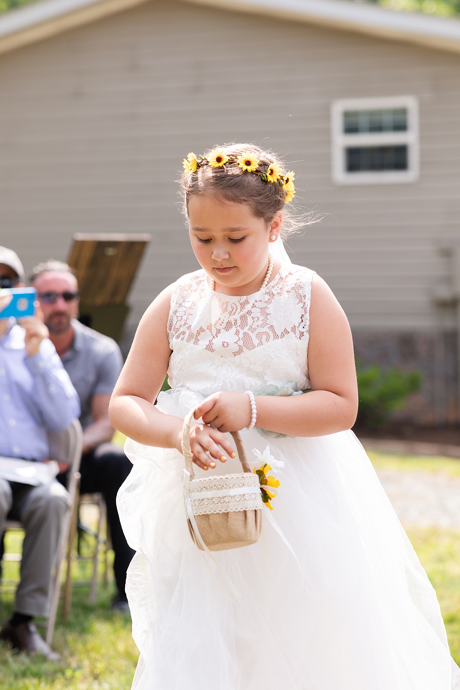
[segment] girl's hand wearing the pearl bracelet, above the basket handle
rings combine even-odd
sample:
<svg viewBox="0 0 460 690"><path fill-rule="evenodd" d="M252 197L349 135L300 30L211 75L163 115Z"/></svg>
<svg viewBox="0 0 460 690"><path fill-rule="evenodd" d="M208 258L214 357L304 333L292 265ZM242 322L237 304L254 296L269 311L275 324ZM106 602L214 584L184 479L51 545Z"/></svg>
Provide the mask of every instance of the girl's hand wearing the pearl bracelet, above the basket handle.
<svg viewBox="0 0 460 690"><path fill-rule="evenodd" d="M249 395L246 393L212 393L194 411L194 419L203 417L205 424L226 433L240 431L251 423L252 411Z"/></svg>

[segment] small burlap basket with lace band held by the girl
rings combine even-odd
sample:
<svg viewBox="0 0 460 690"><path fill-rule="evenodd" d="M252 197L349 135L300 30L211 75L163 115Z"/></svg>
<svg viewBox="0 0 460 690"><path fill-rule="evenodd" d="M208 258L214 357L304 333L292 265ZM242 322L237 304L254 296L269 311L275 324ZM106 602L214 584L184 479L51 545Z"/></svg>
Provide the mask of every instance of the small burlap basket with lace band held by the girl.
<svg viewBox="0 0 460 690"><path fill-rule="evenodd" d="M194 410L186 416L182 431L186 461L184 497L192 540L201 551L223 551L254 544L261 534L263 502L259 477L250 471L241 437L237 431L232 432L242 473L194 479L189 440L193 413Z"/></svg>

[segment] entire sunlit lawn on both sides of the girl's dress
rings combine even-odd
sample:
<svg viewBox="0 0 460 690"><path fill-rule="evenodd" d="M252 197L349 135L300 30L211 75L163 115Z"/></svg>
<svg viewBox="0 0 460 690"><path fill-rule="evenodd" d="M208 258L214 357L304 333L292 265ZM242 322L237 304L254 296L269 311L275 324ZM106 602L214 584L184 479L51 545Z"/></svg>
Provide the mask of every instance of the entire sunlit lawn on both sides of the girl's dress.
<svg viewBox="0 0 460 690"><path fill-rule="evenodd" d="M387 469L460 474L459 460L394 453L369 455L375 466ZM408 535L437 591L452 656L460 663L460 533L412 527ZM6 551L20 551L21 538L19 532L8 533ZM91 550L92 538L86 536L82 551ZM17 580L19 563L8 561L3 566L3 577ZM90 564L74 563L72 576L80 584L89 581ZM88 586L74 586L70 617L63 622L58 615L54 633L53 647L62 655L60 662L14 653L0 643L1 690L129 690L138 651L131 637L130 616L110 610L113 593L112 580L107 589L101 584L97 604L92 606L88 604ZM12 588L3 587L1 620L10 615L12 605Z"/></svg>

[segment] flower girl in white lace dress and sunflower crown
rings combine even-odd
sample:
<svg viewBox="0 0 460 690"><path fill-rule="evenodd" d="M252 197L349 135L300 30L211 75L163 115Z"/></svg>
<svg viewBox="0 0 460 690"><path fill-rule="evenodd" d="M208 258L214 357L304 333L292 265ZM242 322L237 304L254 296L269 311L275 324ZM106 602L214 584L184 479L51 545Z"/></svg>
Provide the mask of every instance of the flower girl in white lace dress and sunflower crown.
<svg viewBox="0 0 460 690"><path fill-rule="evenodd" d="M283 250L292 178L248 144L184 159L202 268L152 302L110 404L134 465L118 495L137 551L132 687L451 690L459 669L436 594L350 431L348 321L326 283ZM166 371L172 390L159 393ZM214 553L225 575L186 522L181 435L192 408L198 477L241 472L227 433L236 430L256 469L278 470L259 542Z"/></svg>

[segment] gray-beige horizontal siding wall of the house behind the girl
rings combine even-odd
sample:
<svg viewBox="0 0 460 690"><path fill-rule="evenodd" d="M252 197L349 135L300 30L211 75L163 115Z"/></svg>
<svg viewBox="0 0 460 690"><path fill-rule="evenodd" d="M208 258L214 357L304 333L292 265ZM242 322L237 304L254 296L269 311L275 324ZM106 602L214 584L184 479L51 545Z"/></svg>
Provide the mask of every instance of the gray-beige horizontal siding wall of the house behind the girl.
<svg viewBox="0 0 460 690"><path fill-rule="evenodd" d="M338 187L330 103L414 95L421 179ZM152 233L130 329L197 268L174 179L223 141L281 152L298 201L328 214L292 240L354 331L452 331L431 299L441 237L459 236L460 56L158 0L0 57L0 237L26 268L74 232Z"/></svg>

